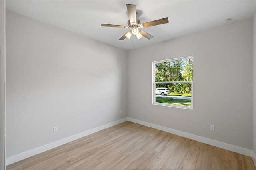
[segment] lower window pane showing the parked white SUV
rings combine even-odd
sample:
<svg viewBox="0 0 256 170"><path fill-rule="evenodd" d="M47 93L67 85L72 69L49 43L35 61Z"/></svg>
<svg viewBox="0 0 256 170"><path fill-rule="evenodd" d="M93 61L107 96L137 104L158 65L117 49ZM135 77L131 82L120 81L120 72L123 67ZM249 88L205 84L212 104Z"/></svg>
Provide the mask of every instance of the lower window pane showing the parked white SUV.
<svg viewBox="0 0 256 170"><path fill-rule="evenodd" d="M191 83L156 84L155 97L158 103L191 106Z"/></svg>

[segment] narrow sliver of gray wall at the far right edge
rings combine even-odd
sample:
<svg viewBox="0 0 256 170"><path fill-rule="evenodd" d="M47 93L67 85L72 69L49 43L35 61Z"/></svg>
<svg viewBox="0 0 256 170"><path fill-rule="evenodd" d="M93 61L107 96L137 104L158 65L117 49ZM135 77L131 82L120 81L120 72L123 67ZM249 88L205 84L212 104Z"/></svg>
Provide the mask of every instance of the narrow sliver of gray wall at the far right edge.
<svg viewBox="0 0 256 170"><path fill-rule="evenodd" d="M253 99L252 99L252 121L253 121L253 128L252 128L252 132L253 132L253 139L252 139L252 143L253 143L253 151L254 154L256 154L256 12L254 14L253 17L253 68L252 68L252 81L253 81L253 90L252 90L252 95L253 95ZM254 163L256 165L256 158L254 158Z"/></svg>

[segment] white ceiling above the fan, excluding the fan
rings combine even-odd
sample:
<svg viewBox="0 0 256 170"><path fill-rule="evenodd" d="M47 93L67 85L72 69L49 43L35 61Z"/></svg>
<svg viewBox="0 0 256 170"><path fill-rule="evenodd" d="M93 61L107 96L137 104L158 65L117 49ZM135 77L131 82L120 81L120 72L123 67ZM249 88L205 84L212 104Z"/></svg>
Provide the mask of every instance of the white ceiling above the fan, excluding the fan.
<svg viewBox="0 0 256 170"><path fill-rule="evenodd" d="M169 18L168 24L143 28L154 38L118 40L129 28L102 27L100 24L127 25L126 4L135 4L142 23ZM7 0L6 9L47 24L64 28L115 47L131 50L194 32L252 18L256 0Z"/></svg>

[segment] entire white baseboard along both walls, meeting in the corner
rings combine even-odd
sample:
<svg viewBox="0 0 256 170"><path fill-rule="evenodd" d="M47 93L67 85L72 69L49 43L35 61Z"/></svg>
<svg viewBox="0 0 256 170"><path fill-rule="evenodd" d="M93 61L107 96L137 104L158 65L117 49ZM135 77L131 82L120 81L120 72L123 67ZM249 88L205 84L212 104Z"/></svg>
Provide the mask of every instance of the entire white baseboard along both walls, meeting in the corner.
<svg viewBox="0 0 256 170"><path fill-rule="evenodd" d="M90 130L86 130L86 131L84 131L82 133L78 133L78 134L75 134L73 136L69 136L67 138L64 138L64 139L61 139L61 140L58 140L58 141L46 144L44 146L40 146L38 148L34 148L32 150L28 150L26 152L23 152L23 153L20 153L20 154L8 157L8 158L6 158L6 165L13 164L13 163L18 162L20 160L29 158L30 156L34 156L36 154L45 152L45 151L50 150L52 148L56 148L58 146L66 144L68 142L72 142L74 140L77 140L77 139L82 138L84 136L87 136L89 134L98 132L98 131L103 130L105 128L112 127L112 126L117 125L119 123L122 123L124 121L131 121L131 122L134 122L134 123L138 123L140 125L156 128L158 130L163 130L165 132L169 132L169 133L172 133L172 134L183 136L185 138L196 140L198 142L210 144L212 146L216 146L216 147L219 147L219 148L223 148L223 149L226 149L226 150L230 150L230 151L233 151L233 152L244 154L246 156L251 156L253 158L254 164L256 166L256 156L255 156L255 153L252 150L249 150L249 149L246 149L246 148L241 148L241 147L234 146L234 145L231 145L231 144L227 144L227 143L224 143L224 142L219 142L219 141L212 140L212 139L209 139L209 138L204 138L202 136L197 136L197 135L194 135L194 134L182 132L182 131L175 130L175 129L172 129L172 128L167 128L167 127L163 127L163 126L160 126L160 125L155 125L153 123L148 123L148 122L140 121L138 119L133 119L133 118L130 118L130 117L126 117L126 118L120 119L118 121L114 121L114 122L108 123L106 125L102 125L100 127L96 127L96 128L90 129Z"/></svg>

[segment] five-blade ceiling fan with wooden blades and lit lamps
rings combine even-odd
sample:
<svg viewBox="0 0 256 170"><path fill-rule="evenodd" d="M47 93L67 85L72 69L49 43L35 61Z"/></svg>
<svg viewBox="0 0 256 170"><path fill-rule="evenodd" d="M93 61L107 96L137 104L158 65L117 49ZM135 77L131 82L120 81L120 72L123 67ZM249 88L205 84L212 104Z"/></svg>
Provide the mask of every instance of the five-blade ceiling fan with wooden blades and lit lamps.
<svg viewBox="0 0 256 170"><path fill-rule="evenodd" d="M137 12L136 12L135 5L126 4L126 7L129 15L129 20L127 22L128 26L101 24L101 26L104 26L104 27L132 28L132 30L126 32L119 40L124 40L126 37L130 39L132 34L136 35L138 40L142 38L142 36L150 40L151 38L153 38L153 36L151 36L150 34L148 34L147 32L139 28L146 28L146 27L156 26L160 24L166 24L169 22L168 17L166 17L159 20L154 20L154 21L145 22L141 24L140 20L136 18Z"/></svg>

